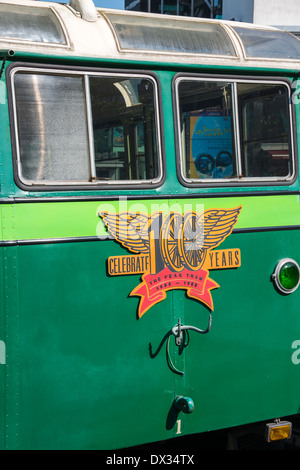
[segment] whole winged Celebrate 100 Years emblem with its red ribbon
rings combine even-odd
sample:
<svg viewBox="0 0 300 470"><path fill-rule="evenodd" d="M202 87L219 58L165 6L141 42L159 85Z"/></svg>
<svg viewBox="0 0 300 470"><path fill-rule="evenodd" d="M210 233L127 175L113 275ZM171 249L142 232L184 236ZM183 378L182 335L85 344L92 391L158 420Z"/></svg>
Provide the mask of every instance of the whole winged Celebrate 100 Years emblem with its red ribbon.
<svg viewBox="0 0 300 470"><path fill-rule="evenodd" d="M135 253L111 256L107 265L111 276L142 274L142 282L129 294L140 297L139 318L173 289L185 290L213 310L211 291L220 286L210 271L241 265L238 248L216 250L231 234L241 209L99 213L112 237Z"/></svg>

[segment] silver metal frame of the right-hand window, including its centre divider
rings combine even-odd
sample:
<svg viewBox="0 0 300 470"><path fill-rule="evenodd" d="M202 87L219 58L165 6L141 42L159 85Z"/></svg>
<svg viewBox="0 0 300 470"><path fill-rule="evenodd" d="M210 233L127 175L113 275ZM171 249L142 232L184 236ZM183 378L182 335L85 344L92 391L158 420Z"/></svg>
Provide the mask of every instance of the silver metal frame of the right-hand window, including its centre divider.
<svg viewBox="0 0 300 470"><path fill-rule="evenodd" d="M179 103L179 92L178 87L182 81L211 81L211 82L227 82L233 85L233 144L235 146L235 160L237 173L236 177L232 178L187 178L184 175L184 161L181 146L181 132L180 132L180 103ZM292 171L291 174L285 177L243 177L241 176L242 167L242 153L241 153L241 140L239 130L239 112L238 112L238 101L237 101L237 85L240 83L257 83L261 85L283 85L288 91L288 109L289 109L289 122L290 122L290 143L291 143L291 163ZM174 115L174 132L175 132L175 151L176 151L176 169L177 176L180 183L189 188L207 188L207 187L235 187L235 186L287 186L295 182L297 178L298 165L297 165L297 146L296 146L296 132L295 132L295 106L292 103L292 83L287 78L274 78L274 77L254 77L245 75L243 77L236 75L211 75L211 74L189 74L189 73L178 73L174 75L172 80L172 95L173 95L173 115Z"/></svg>

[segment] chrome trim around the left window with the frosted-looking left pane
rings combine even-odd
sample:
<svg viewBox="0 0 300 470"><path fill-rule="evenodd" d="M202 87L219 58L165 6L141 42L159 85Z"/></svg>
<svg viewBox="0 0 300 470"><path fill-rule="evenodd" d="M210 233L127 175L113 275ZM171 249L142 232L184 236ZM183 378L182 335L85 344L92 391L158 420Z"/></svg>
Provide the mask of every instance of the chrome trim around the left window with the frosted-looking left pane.
<svg viewBox="0 0 300 470"><path fill-rule="evenodd" d="M124 77L124 78L147 78L151 80L154 85L154 108L155 108L155 119L156 119L156 138L157 138L157 168L158 168L158 176L154 179L143 179L143 180L112 180L112 181L104 181L104 180L96 180L96 181L35 181L35 180L27 180L22 178L21 172L21 159L20 159L20 146L19 146L19 134L18 134L18 123L17 123L17 109L16 109L16 95L15 95L15 85L14 85L14 77L18 72L26 72L26 73L36 73L39 75L64 75L64 76L80 76L83 79L84 87L83 92L85 93L85 103L86 103L86 117L87 117L87 126L88 126L88 147L89 147L89 159L90 163L92 162L92 153L94 153L93 149L93 129L92 129L92 114L90 106L88 106L88 97L87 93L89 94L89 86L86 87L86 83L88 82L88 77ZM17 167L17 178L19 182L24 185L27 189L31 190L39 190L39 188L47 190L48 188L74 188L80 189L83 186L87 187L88 189L122 189L125 187L131 189L151 189L151 187L157 187L160 185L165 177L165 170L163 164L163 148L162 148L162 122L163 119L161 117L162 106L160 103L159 97L159 83L158 79L154 76L154 74L150 74L149 72L134 72L131 73L130 70L128 71L116 71L114 70L105 70L99 72L93 69L82 69L78 70L76 68L49 68L43 66L13 66L9 73L10 77L10 90L11 90L11 99L12 99L12 124L13 124L13 135L14 135L14 145L15 145L15 153L16 153L16 167ZM91 151L91 148L93 149ZM94 161L95 165L95 161ZM92 168L92 163L90 166L91 170L91 177L95 175L95 168ZM49 189L48 189L49 190Z"/></svg>

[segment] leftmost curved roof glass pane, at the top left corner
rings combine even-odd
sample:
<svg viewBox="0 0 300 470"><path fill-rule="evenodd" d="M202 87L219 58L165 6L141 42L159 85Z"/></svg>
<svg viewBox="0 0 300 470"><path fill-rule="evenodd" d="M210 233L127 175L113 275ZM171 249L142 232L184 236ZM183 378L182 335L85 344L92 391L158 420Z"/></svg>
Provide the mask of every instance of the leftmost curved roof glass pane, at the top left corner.
<svg viewBox="0 0 300 470"><path fill-rule="evenodd" d="M53 11L47 8L0 4L0 36L34 42L65 44L64 33Z"/></svg>

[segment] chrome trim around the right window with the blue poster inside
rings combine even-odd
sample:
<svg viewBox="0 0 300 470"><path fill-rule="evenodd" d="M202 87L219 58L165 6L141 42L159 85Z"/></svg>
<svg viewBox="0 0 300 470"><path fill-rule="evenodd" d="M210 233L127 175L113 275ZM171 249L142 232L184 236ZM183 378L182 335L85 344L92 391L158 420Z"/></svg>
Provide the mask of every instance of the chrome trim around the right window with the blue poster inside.
<svg viewBox="0 0 300 470"><path fill-rule="evenodd" d="M175 101L175 147L177 149L177 169L179 171L178 177L181 182L187 187L201 187L207 186L210 187L218 187L218 186L228 186L229 185L246 185L246 184L254 184L262 185L262 184L282 184L282 183L291 183L296 177L296 155L295 155L295 136L293 132L293 110L292 110L292 99L291 99L291 86L289 85L288 80L284 79L272 79L272 78L238 78L238 77L226 77L224 75L216 77L216 76L195 76L189 74L178 74L179 76L174 77L174 101ZM182 154L182 146L181 146L181 136L180 136L180 107L179 107L179 92L178 87L180 82L182 81L212 81L212 82L220 82L220 81L227 81L228 83L233 84L233 110L234 110L234 117L233 117L233 125L234 125L234 143L236 146L236 166L237 166L237 173L238 176L232 178L187 178L183 174L184 168L184 156ZM268 85L283 85L288 90L288 109L289 109L289 118L290 118L290 143L291 143L291 163L292 163L292 172L290 175L285 177L243 177L241 176L241 142L240 142L240 135L239 135L239 113L238 113L238 99L237 99L237 85L240 83L257 83L257 84L268 84ZM239 173L240 172L240 173Z"/></svg>

